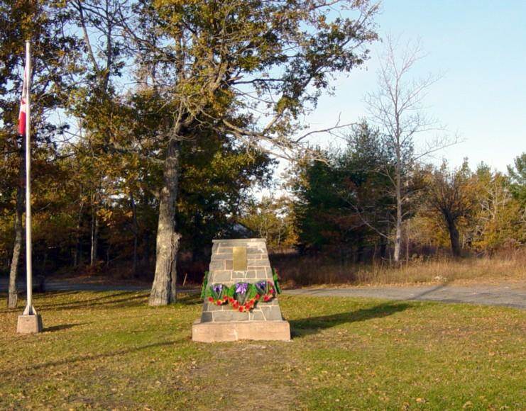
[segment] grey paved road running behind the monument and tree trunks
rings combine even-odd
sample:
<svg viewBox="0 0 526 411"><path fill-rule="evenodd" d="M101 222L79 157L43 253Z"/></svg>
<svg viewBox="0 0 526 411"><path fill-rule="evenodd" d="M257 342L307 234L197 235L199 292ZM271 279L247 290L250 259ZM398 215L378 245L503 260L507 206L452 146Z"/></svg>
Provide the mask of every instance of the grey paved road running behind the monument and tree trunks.
<svg viewBox="0 0 526 411"><path fill-rule="evenodd" d="M18 286L25 290L25 284ZM0 278L0 292L7 288L6 278ZM146 291L143 286L113 286L89 283L68 283L46 281L48 291ZM192 290L191 292L198 292ZM484 305L505 305L526 309L526 284L505 283L498 286L382 286L355 288L297 288L285 290L288 295L318 295L331 297L368 297L388 300L432 300L444 303L472 303Z"/></svg>

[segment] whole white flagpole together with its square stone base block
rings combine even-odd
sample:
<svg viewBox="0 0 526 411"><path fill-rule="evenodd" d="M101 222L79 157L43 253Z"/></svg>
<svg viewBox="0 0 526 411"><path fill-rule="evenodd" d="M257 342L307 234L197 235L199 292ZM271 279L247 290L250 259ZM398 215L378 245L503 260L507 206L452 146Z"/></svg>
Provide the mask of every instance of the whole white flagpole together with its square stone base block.
<svg viewBox="0 0 526 411"><path fill-rule="evenodd" d="M33 264L31 261L31 43L26 41L26 285L27 301L23 315L18 316L17 331L33 333L42 331L42 319L33 308Z"/></svg>

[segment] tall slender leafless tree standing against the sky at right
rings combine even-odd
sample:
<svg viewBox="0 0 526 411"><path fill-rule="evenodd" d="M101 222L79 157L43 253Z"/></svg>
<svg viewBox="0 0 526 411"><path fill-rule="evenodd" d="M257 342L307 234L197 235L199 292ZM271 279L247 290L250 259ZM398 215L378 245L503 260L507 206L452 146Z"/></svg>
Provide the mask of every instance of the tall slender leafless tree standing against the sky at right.
<svg viewBox="0 0 526 411"><path fill-rule="evenodd" d="M407 189L411 186L412 170L422 157L454 143L446 137L435 137L420 142L420 152L415 148L415 136L440 130L437 122L425 113L423 104L427 90L438 77L428 74L412 78L412 69L424 57L420 42L410 42L405 47L399 47L399 43L398 39L389 36L386 39L378 70L378 90L365 98L373 123L378 125L386 147L393 152L394 164L385 164L378 171L388 176L392 186L390 194L396 201L393 255L396 262L400 261L402 220L409 213L405 204L415 193Z"/></svg>

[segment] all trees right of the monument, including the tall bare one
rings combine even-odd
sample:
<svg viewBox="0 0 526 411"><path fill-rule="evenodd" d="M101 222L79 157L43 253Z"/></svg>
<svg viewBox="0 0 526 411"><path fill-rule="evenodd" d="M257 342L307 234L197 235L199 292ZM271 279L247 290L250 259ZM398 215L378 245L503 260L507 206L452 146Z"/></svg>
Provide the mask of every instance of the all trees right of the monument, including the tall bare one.
<svg viewBox="0 0 526 411"><path fill-rule="evenodd" d="M412 75L423 57L419 42L385 38L378 86L365 98L368 117L341 133L341 147L319 149L324 161L296 162L286 182L292 197L263 198L248 225L277 247L292 242L355 261L399 264L410 250L432 254L446 246L454 257L523 247L526 154L507 174L483 163L470 170L467 159L456 169L445 160L429 164L460 139L424 105L439 78Z"/></svg>

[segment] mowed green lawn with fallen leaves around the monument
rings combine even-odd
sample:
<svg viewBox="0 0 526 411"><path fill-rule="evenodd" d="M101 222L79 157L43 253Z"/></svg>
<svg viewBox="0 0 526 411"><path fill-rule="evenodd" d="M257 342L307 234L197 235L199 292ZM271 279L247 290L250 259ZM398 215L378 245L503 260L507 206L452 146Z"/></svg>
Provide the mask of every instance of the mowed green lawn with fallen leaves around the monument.
<svg viewBox="0 0 526 411"><path fill-rule="evenodd" d="M292 342L197 344L196 298L37 295L45 332L0 310L0 409L526 408L525 312L354 298L280 298Z"/></svg>

